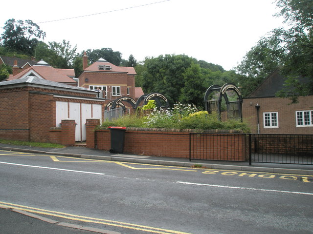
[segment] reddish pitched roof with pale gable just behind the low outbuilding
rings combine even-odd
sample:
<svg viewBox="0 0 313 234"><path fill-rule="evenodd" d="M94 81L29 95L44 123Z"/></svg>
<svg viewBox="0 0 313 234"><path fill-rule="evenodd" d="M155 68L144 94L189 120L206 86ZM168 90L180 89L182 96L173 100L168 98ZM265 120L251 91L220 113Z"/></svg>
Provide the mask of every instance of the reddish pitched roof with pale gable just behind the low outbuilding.
<svg viewBox="0 0 313 234"><path fill-rule="evenodd" d="M61 83L76 83L75 80L72 78L67 77L67 75L64 75L63 71L58 71L57 69L51 67L49 64L47 64L45 61L41 60L38 63L36 63L34 66L31 66L27 68L26 70L20 72L14 77L9 77L7 80L12 79L20 79L25 78L28 76L36 76L39 78L55 81L55 82L61 82Z"/></svg>

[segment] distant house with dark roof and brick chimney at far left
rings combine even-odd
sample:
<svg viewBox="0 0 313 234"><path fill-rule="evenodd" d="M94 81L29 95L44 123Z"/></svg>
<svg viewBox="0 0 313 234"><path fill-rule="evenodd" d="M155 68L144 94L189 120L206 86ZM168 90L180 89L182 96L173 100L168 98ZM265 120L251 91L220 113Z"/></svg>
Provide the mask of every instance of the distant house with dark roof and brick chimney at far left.
<svg viewBox="0 0 313 234"><path fill-rule="evenodd" d="M13 76L26 70L27 68L36 64L35 58L32 59L20 59L15 57L0 56L0 65L5 64L12 67Z"/></svg>

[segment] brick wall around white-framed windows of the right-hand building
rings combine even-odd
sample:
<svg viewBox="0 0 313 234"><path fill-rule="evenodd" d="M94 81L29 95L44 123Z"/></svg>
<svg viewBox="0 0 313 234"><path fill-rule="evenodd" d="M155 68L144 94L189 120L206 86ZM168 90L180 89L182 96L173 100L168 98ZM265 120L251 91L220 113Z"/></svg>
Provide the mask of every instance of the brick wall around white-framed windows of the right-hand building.
<svg viewBox="0 0 313 234"><path fill-rule="evenodd" d="M296 111L313 110L313 96L299 97L299 103L290 104L287 98L245 98L243 118L249 123L252 133L257 131L258 104L261 134L313 134L313 127L296 127ZM278 112L278 128L264 128L263 113Z"/></svg>

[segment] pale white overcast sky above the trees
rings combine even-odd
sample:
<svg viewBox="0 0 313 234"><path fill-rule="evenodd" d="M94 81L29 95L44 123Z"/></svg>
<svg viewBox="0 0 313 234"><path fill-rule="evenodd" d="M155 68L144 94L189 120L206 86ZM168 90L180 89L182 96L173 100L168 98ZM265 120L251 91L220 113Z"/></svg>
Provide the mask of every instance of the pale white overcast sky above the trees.
<svg viewBox="0 0 313 234"><path fill-rule="evenodd" d="M273 17L279 12L273 1L4 1L0 34L9 19L32 20L46 33L45 43L65 39L79 53L111 48L137 61L184 54L230 70L261 37L283 25Z"/></svg>

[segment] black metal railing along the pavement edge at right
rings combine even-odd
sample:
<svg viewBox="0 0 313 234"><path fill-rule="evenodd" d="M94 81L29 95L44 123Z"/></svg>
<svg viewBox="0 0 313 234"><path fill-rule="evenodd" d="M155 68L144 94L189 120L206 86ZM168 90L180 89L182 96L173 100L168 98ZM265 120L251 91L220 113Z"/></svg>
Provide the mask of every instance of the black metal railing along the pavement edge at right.
<svg viewBox="0 0 313 234"><path fill-rule="evenodd" d="M313 164L313 135L190 133L189 159Z"/></svg>

